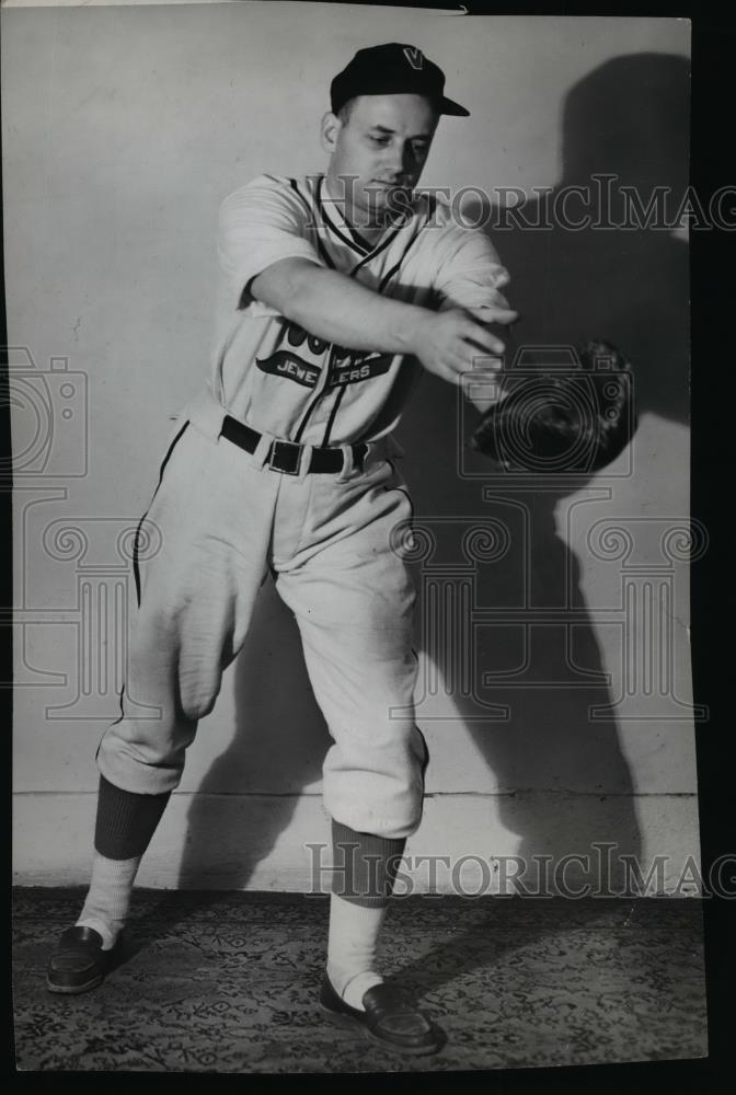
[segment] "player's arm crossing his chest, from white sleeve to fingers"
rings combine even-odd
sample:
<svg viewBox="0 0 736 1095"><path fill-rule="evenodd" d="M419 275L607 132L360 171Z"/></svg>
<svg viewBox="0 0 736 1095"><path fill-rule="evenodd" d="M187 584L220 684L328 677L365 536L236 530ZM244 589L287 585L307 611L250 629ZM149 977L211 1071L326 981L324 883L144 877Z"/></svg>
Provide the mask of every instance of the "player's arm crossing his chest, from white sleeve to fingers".
<svg viewBox="0 0 736 1095"><path fill-rule="evenodd" d="M318 338L350 349L413 354L452 383L460 383L479 354L503 354L503 343L485 324L511 322L515 312L435 312L382 297L322 263L307 238L308 216L288 187L268 176L226 198L218 250L238 286L239 307L257 300Z"/></svg>

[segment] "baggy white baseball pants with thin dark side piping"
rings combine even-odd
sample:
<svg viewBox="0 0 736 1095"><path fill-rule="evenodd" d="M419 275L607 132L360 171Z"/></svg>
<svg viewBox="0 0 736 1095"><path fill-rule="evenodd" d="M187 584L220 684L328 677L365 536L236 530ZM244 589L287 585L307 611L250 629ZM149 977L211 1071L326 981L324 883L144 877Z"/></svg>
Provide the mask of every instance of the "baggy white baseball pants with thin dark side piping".
<svg viewBox="0 0 736 1095"><path fill-rule="evenodd" d="M268 438L253 454L218 440L225 413L210 395L185 408L177 430L188 425L141 522L141 541L151 521L162 545L137 562L123 715L102 738L97 766L126 791L177 786L271 568L334 741L325 809L360 832L409 835L427 757L414 723L415 592L396 546L411 502L387 456L395 442L371 447L363 471L291 476L264 465ZM160 717L128 714L128 694Z"/></svg>

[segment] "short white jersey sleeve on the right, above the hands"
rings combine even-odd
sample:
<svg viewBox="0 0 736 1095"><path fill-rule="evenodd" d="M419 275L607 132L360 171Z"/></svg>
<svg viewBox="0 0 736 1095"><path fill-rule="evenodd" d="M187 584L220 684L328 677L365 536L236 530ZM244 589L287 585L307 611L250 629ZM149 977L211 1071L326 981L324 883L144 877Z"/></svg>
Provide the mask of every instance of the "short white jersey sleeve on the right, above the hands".
<svg viewBox="0 0 736 1095"><path fill-rule="evenodd" d="M435 275L438 310L508 308L501 289L509 281L491 240L478 229L456 229Z"/></svg>

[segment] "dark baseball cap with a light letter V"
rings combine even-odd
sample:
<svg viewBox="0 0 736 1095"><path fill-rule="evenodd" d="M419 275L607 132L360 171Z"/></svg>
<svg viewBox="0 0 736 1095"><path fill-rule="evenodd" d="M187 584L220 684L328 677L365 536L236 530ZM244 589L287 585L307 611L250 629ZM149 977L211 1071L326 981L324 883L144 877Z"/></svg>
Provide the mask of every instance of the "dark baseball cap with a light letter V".
<svg viewBox="0 0 736 1095"><path fill-rule="evenodd" d="M388 42L358 49L330 84L332 113L356 95L426 95L439 114L469 117L470 111L445 97L445 73L416 46Z"/></svg>

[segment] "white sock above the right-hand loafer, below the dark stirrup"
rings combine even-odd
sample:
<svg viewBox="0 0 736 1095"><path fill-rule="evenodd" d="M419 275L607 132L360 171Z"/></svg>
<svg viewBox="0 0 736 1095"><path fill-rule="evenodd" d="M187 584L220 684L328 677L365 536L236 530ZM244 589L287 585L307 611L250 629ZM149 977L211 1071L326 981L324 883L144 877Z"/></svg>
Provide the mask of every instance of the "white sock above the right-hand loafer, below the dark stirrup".
<svg viewBox="0 0 736 1095"><path fill-rule="evenodd" d="M327 977L337 995L361 1012L364 993L383 980L373 966L384 917L386 907L366 909L330 895Z"/></svg>

